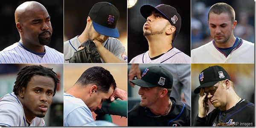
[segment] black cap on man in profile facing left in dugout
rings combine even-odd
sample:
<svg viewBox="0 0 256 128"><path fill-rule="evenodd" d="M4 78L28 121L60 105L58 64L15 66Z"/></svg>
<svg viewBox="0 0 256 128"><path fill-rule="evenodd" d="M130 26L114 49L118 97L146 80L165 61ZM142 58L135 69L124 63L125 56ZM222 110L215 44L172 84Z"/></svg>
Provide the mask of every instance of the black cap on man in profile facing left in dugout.
<svg viewBox="0 0 256 128"><path fill-rule="evenodd" d="M160 86L166 89L172 89L173 78L172 74L163 67L152 66L144 70L141 79L130 82L142 87Z"/></svg>

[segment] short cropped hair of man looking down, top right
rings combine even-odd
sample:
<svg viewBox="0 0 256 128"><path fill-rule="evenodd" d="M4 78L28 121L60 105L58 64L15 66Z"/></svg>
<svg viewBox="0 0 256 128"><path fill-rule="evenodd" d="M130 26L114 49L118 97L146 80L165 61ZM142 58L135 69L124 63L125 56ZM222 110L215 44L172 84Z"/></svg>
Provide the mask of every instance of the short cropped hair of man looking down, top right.
<svg viewBox="0 0 256 128"><path fill-rule="evenodd" d="M221 14L221 13L228 13L230 15L231 18L231 22L235 21L235 11L234 9L228 5L227 3L215 3L209 10L208 12L208 20L209 20L209 14L213 12L215 14Z"/></svg>

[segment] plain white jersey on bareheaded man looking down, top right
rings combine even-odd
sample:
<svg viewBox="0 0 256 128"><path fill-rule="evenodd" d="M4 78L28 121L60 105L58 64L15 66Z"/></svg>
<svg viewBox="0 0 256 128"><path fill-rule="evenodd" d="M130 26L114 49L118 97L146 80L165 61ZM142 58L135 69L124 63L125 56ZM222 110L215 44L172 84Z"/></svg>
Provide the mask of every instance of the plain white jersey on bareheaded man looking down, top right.
<svg viewBox="0 0 256 128"><path fill-rule="evenodd" d="M192 63L254 63L254 44L242 40L228 56L215 46L213 40L191 50Z"/></svg>

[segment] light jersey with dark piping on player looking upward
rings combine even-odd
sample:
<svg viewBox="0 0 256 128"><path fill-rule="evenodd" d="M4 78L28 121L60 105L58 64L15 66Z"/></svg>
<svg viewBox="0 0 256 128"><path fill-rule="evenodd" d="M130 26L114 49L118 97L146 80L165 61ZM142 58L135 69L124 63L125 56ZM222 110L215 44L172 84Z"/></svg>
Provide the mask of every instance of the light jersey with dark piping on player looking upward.
<svg viewBox="0 0 256 128"><path fill-rule="evenodd" d="M149 51L135 56L130 63L190 63L191 59L188 55L173 47L167 53L164 53L157 59L151 60Z"/></svg>

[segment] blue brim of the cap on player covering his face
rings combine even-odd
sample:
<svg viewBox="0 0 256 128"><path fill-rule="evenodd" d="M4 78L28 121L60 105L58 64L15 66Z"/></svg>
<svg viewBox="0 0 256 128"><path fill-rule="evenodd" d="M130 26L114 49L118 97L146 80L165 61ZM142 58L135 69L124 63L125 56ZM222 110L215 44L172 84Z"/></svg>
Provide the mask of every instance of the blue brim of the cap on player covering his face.
<svg viewBox="0 0 256 128"><path fill-rule="evenodd" d="M110 36L114 38L119 37L119 32L117 28L108 28L102 25L99 25L98 23L93 21L93 28L95 29L96 32L105 35L105 36Z"/></svg>

